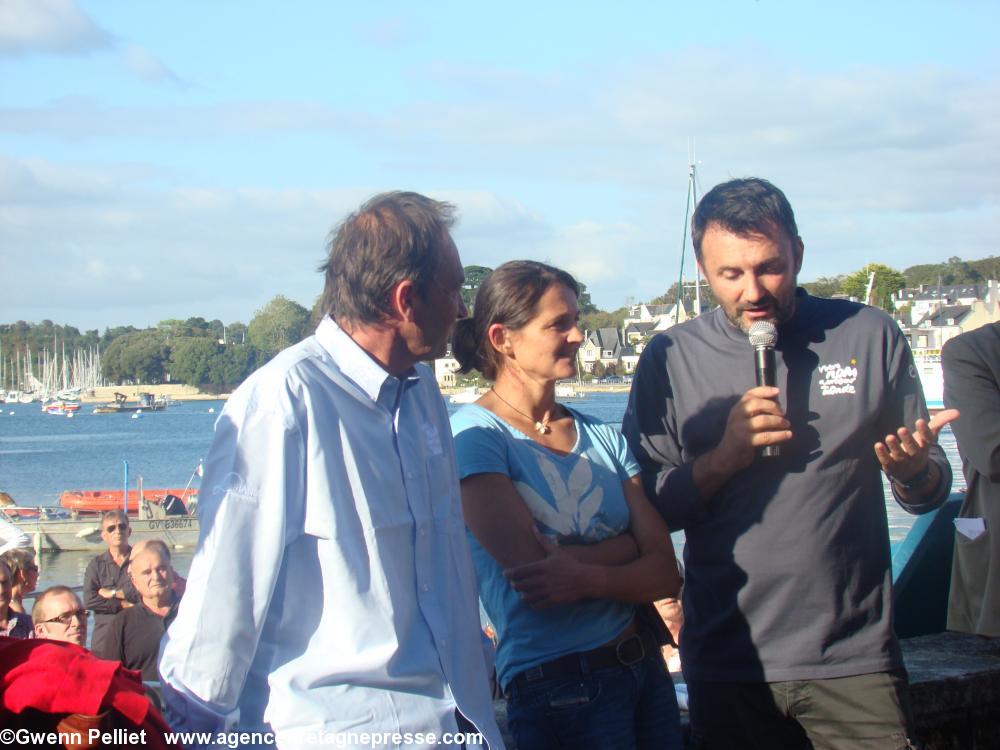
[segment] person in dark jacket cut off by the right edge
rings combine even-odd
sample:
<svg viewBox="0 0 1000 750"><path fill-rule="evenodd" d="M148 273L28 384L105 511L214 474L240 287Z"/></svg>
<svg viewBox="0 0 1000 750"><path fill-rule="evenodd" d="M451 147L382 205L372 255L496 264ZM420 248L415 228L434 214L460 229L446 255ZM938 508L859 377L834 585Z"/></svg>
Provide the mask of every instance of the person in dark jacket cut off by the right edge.
<svg viewBox="0 0 1000 750"><path fill-rule="evenodd" d="M1000 323L948 341L941 351L944 402L968 490L959 511L948 629L1000 636Z"/></svg>

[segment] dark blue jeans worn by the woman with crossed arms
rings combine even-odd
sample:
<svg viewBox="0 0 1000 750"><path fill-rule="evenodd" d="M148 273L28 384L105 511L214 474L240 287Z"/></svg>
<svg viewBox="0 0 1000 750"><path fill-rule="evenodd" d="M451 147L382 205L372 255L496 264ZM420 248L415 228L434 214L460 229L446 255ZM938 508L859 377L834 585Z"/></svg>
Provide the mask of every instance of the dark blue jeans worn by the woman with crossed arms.
<svg viewBox="0 0 1000 750"><path fill-rule="evenodd" d="M677 695L657 652L632 666L510 684L517 750L681 750Z"/></svg>

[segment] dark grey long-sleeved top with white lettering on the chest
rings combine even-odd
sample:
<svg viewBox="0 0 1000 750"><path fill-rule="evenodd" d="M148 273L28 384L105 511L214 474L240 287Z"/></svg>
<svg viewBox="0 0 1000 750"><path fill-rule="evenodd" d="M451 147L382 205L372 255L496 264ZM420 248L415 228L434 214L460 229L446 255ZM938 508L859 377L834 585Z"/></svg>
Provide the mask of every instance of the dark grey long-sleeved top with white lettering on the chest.
<svg viewBox="0 0 1000 750"><path fill-rule="evenodd" d="M779 398L794 438L757 458L707 503L691 476L732 406L754 386L753 350L721 309L675 326L643 351L623 432L646 491L686 532L687 679L843 677L901 664L892 570L874 444L927 417L898 326L864 305L798 291L779 329ZM939 505L942 482L920 505Z"/></svg>

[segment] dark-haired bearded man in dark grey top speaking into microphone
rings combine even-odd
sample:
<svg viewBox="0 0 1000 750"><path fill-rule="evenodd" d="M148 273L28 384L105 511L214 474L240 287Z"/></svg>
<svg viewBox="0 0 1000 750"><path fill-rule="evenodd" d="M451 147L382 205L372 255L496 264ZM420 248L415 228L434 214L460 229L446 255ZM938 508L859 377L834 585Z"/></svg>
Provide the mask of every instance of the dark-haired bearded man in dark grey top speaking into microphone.
<svg viewBox="0 0 1000 750"><path fill-rule="evenodd" d="M686 532L692 732L710 749L907 747L880 471L910 512L943 502L937 432L957 412L927 421L887 315L796 287L804 245L769 182L715 187L692 235L719 308L646 347L623 422L647 493ZM757 321L777 328L777 387L754 385Z"/></svg>

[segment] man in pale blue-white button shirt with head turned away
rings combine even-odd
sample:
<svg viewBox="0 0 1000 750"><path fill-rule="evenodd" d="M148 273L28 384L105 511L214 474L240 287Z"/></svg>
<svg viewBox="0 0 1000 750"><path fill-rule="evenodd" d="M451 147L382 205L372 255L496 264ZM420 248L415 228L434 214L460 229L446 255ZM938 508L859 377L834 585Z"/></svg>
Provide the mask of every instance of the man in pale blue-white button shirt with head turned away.
<svg viewBox="0 0 1000 750"><path fill-rule="evenodd" d="M175 729L409 748L471 723L503 746L447 412L418 364L466 312L452 212L386 193L349 216L316 334L219 417L198 551L161 646Z"/></svg>

